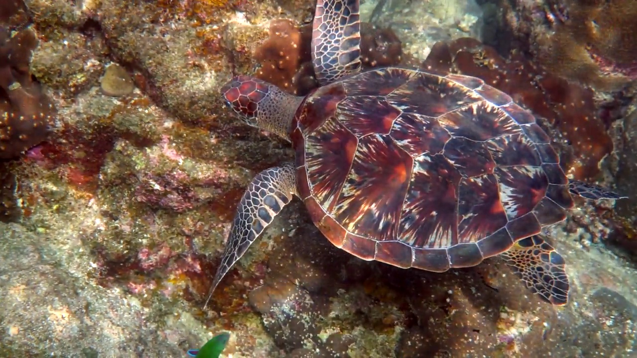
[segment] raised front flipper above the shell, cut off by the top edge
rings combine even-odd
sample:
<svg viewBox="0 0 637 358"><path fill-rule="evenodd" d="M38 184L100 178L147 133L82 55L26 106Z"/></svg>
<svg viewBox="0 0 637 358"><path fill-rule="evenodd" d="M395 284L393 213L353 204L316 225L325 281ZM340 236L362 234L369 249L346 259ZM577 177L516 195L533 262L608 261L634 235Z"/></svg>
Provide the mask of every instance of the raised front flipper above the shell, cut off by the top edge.
<svg viewBox="0 0 637 358"><path fill-rule="evenodd" d="M312 30L312 62L321 86L361 71L358 0L318 0Z"/></svg>

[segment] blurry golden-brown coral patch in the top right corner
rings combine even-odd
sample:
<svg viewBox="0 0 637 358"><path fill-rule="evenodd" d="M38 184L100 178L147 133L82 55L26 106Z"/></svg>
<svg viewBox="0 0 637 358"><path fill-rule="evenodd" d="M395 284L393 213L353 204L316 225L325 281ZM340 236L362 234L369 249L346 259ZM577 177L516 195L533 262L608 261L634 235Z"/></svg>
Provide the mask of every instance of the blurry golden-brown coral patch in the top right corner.
<svg viewBox="0 0 637 358"><path fill-rule="evenodd" d="M601 90L637 80L637 3L565 0L553 8L558 23L538 44L542 64Z"/></svg>

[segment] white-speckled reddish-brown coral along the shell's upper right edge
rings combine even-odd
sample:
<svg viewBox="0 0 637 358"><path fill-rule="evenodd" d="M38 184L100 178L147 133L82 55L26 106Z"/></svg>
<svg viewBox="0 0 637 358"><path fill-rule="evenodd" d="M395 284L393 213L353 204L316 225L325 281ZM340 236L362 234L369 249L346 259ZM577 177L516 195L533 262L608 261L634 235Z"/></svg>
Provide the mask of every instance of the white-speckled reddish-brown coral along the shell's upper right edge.
<svg viewBox="0 0 637 358"><path fill-rule="evenodd" d="M563 165L576 179L596 176L599 161L613 149L598 117L594 92L547 73L522 55L514 53L505 60L494 48L473 38L461 38L434 45L422 67L482 78L545 118L566 141Z"/></svg>

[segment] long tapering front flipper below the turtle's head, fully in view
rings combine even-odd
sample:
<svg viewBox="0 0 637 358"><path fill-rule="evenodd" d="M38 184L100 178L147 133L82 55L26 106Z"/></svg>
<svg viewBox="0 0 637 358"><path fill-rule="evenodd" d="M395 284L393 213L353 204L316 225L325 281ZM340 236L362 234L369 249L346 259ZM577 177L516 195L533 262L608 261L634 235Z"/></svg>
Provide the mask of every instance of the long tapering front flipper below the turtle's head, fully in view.
<svg viewBox="0 0 637 358"><path fill-rule="evenodd" d="M212 292L225 274L296 193L296 171L292 163L266 169L252 179L237 206L221 264L217 268L204 308L208 306Z"/></svg>

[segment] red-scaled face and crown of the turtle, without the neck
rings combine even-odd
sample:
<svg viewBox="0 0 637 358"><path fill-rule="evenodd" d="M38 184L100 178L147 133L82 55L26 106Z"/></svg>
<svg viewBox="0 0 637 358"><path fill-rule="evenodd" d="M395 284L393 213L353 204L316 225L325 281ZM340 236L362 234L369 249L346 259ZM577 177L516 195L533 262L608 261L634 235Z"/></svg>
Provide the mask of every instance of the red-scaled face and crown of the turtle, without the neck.
<svg viewBox="0 0 637 358"><path fill-rule="evenodd" d="M259 115L259 103L268 96L267 82L250 76L235 76L221 88L225 103L248 124Z"/></svg>

